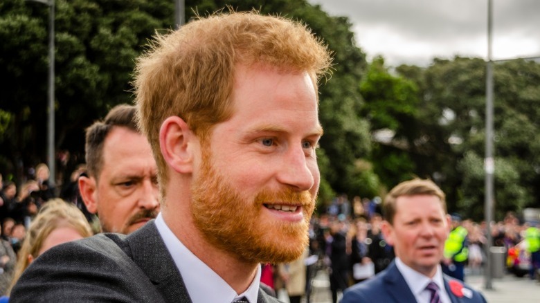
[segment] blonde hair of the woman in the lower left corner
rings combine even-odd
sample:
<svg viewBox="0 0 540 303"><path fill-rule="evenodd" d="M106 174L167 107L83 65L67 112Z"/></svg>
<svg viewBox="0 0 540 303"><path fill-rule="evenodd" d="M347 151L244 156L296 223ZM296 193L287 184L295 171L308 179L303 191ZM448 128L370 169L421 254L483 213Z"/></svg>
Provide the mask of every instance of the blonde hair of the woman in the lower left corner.
<svg viewBox="0 0 540 303"><path fill-rule="evenodd" d="M51 199L42 205L35 219L33 219L24 237L21 249L17 253L17 264L11 282L11 288L17 283L24 270L30 265L28 256L38 257L45 239L57 228L70 227L76 230L81 237L91 237L93 232L77 206L62 199Z"/></svg>

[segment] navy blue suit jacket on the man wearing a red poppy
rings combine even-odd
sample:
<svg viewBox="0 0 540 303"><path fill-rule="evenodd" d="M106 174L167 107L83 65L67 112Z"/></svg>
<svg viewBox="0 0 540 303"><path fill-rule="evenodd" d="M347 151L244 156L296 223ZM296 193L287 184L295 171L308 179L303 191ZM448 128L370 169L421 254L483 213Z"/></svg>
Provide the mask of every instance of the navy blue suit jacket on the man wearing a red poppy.
<svg viewBox="0 0 540 303"><path fill-rule="evenodd" d="M483 295L475 291L473 288L464 284L464 287L469 289L471 297L456 296L450 289L449 282L453 280L451 277L444 276L444 286L452 300L452 303L485 303ZM462 283L462 282L460 282ZM351 286L343 293L341 303L361 303L361 302L416 302L411 289L408 288L405 278L397 269L395 262L375 277Z"/></svg>

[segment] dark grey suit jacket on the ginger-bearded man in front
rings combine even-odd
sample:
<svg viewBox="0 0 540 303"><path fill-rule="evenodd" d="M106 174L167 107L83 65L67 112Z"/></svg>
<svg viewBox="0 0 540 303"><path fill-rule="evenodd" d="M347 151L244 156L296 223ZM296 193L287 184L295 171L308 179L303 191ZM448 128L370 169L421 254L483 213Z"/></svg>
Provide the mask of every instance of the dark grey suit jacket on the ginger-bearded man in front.
<svg viewBox="0 0 540 303"><path fill-rule="evenodd" d="M150 221L129 236L100 234L47 250L25 270L10 302L161 303L191 299L154 221ZM279 301L260 290L258 303L271 302Z"/></svg>

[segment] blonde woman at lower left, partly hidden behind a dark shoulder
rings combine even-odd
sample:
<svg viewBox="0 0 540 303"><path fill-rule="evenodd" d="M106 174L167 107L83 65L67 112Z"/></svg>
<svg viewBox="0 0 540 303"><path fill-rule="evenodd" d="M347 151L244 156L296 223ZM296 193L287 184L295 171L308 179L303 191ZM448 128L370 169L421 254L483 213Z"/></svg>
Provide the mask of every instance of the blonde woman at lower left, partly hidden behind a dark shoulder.
<svg viewBox="0 0 540 303"><path fill-rule="evenodd" d="M17 265L10 288L30 263L49 248L91 235L93 232L87 219L75 205L62 199L46 202L30 224L17 254ZM9 291L10 289L8 294Z"/></svg>

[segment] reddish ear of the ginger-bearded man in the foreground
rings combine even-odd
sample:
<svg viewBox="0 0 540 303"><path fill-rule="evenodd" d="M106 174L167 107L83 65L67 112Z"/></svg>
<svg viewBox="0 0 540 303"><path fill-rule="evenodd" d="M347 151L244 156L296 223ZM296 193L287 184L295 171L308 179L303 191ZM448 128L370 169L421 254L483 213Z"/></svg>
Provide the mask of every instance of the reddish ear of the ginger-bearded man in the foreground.
<svg viewBox="0 0 540 303"><path fill-rule="evenodd" d="M161 124L159 147L168 165L181 174L193 171L193 156L198 138L188 124L178 116L171 116Z"/></svg>

